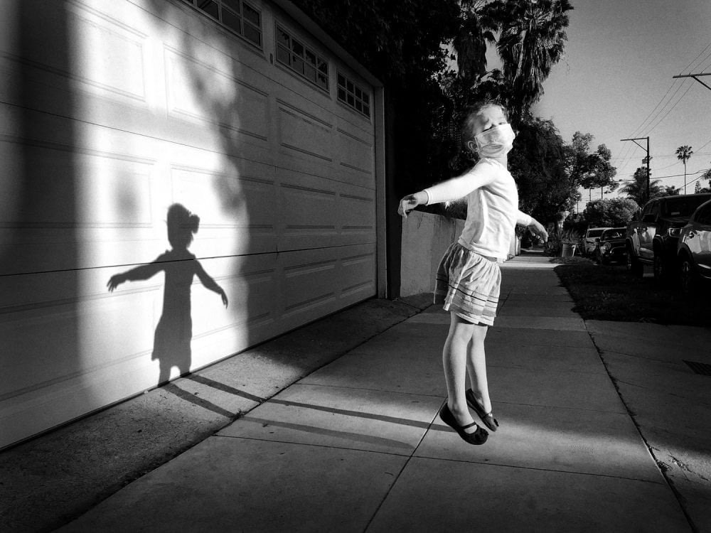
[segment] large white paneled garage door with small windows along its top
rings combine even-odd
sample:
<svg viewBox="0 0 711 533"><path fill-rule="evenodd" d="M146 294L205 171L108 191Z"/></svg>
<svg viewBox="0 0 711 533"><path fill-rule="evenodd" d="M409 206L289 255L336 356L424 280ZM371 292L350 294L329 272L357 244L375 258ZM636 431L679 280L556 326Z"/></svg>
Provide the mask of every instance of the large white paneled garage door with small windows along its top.
<svg viewBox="0 0 711 533"><path fill-rule="evenodd" d="M373 87L277 6L0 24L0 447L375 296Z"/></svg>

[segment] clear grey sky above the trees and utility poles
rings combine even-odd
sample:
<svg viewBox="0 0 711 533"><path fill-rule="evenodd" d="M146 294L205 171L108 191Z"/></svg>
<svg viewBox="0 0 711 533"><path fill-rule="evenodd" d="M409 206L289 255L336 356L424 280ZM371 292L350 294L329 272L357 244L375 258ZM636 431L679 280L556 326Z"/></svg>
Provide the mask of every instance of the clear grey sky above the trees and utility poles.
<svg viewBox="0 0 711 533"><path fill-rule="evenodd" d="M565 58L544 83L535 114L552 119L564 141L582 131L594 136L592 150L605 144L618 180L631 179L646 156L621 139L649 136L652 179L678 188L684 166L675 151L691 146L693 193L693 180L711 167L711 90L673 76L711 72L711 0L571 2ZM711 86L711 76L700 80ZM600 196L592 191L593 200ZM585 191L579 210L589 198Z"/></svg>

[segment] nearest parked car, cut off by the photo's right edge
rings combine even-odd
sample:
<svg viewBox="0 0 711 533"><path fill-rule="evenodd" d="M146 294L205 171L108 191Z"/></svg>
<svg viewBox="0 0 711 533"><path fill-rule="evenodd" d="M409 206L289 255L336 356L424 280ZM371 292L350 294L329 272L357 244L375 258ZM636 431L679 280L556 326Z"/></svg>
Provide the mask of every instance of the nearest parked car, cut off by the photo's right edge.
<svg viewBox="0 0 711 533"><path fill-rule="evenodd" d="M700 205L681 229L677 252L683 291L692 292L700 280L711 279L711 201Z"/></svg>

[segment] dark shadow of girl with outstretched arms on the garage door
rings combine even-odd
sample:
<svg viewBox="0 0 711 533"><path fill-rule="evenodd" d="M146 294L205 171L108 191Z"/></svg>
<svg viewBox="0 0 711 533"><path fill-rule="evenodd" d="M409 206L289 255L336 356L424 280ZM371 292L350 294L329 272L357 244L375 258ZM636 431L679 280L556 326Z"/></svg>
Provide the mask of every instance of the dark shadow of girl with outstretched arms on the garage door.
<svg viewBox="0 0 711 533"><path fill-rule="evenodd" d="M152 263L111 276L107 284L109 291L113 291L124 281L149 279L159 271L165 271L163 313L156 327L151 355L151 359L160 362L158 384L170 379L172 367L178 367L180 375L190 371L190 343L193 338L190 291L193 276L198 276L206 289L219 294L225 307L228 305L225 291L205 272L198 259L188 252L193 233L198 232L200 217L175 203L168 208L167 223L168 241L173 248L159 255Z"/></svg>

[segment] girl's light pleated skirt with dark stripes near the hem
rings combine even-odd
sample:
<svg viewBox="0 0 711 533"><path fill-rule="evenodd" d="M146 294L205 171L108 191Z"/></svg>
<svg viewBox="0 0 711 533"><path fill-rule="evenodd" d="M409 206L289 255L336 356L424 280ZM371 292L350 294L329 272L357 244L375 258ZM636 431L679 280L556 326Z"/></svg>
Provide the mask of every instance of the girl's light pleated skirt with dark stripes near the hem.
<svg viewBox="0 0 711 533"><path fill-rule="evenodd" d="M501 294L501 269L496 261L458 242L444 252L437 269L434 303L474 323L493 325Z"/></svg>

